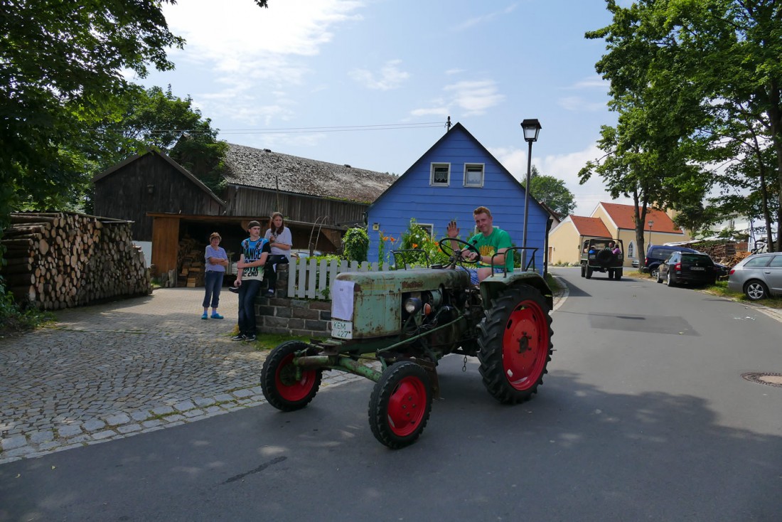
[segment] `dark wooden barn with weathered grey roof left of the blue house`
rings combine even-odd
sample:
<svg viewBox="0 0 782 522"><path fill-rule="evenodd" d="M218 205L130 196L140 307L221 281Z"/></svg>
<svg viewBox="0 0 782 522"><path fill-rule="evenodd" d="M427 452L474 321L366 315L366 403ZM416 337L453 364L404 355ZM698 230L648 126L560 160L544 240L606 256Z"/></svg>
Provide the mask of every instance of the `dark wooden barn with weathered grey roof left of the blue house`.
<svg viewBox="0 0 782 522"><path fill-rule="evenodd" d="M221 234L225 250L238 250L247 222L265 227L274 211L285 215L294 250L338 251L347 229L364 225L369 203L395 179L233 144L224 165L218 196L165 154L131 157L94 178L95 212L135 221L134 239L150 242L152 265L167 272L195 255L183 252L193 244L203 254L211 232Z"/></svg>

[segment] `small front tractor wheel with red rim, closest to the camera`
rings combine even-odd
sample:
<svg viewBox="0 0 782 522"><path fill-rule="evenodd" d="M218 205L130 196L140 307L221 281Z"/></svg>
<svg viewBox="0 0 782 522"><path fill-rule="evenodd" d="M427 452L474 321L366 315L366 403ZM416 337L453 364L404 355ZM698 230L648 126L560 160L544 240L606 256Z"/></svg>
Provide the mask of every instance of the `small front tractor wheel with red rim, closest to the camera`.
<svg viewBox="0 0 782 522"><path fill-rule="evenodd" d="M391 449L413 444L432 411L432 383L426 370L411 362L386 368L369 399L369 427Z"/></svg>

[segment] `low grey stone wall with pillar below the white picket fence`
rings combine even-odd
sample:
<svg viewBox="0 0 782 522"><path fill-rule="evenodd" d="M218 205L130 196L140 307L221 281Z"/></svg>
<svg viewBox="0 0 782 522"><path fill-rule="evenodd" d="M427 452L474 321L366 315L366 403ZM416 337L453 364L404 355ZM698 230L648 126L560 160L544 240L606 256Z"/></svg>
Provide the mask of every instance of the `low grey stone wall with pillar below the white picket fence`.
<svg viewBox="0 0 782 522"><path fill-rule="evenodd" d="M275 297L258 297L255 315L258 333L329 337L332 302L288 297L288 267L277 266Z"/></svg>

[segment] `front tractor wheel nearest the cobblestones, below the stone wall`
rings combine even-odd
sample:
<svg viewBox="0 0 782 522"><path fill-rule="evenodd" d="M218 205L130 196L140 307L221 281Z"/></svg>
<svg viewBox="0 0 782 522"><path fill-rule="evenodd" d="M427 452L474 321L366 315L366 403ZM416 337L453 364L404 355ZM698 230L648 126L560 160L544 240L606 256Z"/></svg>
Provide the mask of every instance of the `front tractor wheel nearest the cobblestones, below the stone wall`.
<svg viewBox="0 0 782 522"><path fill-rule="evenodd" d="M323 371L293 364L296 352L307 349L307 343L289 340L271 351L260 371L260 387L269 404L283 412L292 412L310 404L321 387Z"/></svg>

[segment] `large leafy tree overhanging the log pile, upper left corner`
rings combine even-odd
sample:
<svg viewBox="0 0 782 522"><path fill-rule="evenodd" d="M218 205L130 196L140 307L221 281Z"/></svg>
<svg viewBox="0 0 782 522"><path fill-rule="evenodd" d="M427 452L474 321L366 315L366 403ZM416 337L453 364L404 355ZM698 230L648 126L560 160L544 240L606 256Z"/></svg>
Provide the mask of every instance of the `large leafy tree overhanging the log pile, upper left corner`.
<svg viewBox="0 0 782 522"><path fill-rule="evenodd" d="M101 156L95 129L128 92L123 70L174 67L167 49L185 41L165 3L0 0L0 235L11 211L62 209L82 192Z"/></svg>

